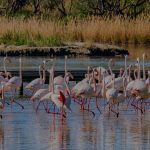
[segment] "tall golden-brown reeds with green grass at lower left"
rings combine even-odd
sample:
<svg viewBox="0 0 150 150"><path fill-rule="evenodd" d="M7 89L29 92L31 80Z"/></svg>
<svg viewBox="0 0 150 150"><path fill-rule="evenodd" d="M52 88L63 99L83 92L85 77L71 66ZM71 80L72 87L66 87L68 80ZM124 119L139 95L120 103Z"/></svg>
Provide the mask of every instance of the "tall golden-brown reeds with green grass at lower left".
<svg viewBox="0 0 150 150"><path fill-rule="evenodd" d="M149 18L102 19L90 17L63 21L31 18L0 18L0 44L59 46L64 42L99 42L112 44L150 43Z"/></svg>

